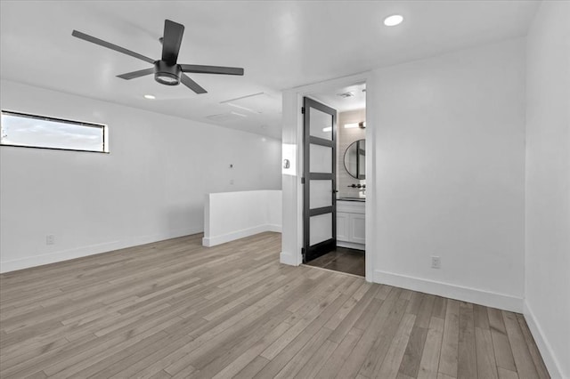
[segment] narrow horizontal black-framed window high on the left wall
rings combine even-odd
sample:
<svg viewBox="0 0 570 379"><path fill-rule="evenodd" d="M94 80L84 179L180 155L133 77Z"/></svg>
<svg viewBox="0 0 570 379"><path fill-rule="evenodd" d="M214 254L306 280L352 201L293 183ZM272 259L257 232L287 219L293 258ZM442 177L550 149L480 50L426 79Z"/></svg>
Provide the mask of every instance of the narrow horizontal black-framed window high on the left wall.
<svg viewBox="0 0 570 379"><path fill-rule="evenodd" d="M0 145L108 153L107 125L2 111Z"/></svg>

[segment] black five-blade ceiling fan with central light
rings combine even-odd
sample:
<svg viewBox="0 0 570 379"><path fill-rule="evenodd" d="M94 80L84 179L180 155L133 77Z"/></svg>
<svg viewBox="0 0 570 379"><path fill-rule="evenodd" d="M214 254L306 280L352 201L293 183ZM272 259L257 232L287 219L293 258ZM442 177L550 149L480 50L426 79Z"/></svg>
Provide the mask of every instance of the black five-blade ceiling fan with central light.
<svg viewBox="0 0 570 379"><path fill-rule="evenodd" d="M178 64L178 52L182 44L182 36L184 33L184 26L171 20L164 21L164 36L160 38L162 43L162 58L160 60L152 60L137 52L132 52L116 44L110 44L107 41L96 38L94 36L86 35L77 30L73 30L71 36L83 39L93 44L99 44L108 49L116 52L122 52L130 55L139 60L154 65L151 69L141 69L138 71L127 72L126 74L118 75L122 79L130 80L135 77L144 77L145 75L154 74L154 80L161 85L179 85L181 82L186 85L195 93L208 93L198 83L194 82L184 72L193 72L197 74L221 74L221 75L243 75L243 69L237 67L222 67L222 66L202 66L195 64Z"/></svg>

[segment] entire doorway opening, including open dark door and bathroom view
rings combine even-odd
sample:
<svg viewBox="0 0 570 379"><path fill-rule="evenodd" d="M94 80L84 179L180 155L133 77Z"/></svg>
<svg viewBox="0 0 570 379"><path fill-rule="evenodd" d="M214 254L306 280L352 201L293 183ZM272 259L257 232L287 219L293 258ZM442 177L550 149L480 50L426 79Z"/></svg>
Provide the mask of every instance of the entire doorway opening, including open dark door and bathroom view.
<svg viewBox="0 0 570 379"><path fill-rule="evenodd" d="M363 277L366 267L366 83L338 86L307 94L306 98L309 101L305 104L316 103L332 109L335 117L324 118L315 113L312 118L306 112L313 109L305 107L303 262ZM322 120L326 120L327 125ZM320 141L320 137L327 141ZM321 146L317 146L319 143ZM329 146L330 149L325 149ZM319 167L320 172L315 173L314 167ZM316 253L315 246L319 247Z"/></svg>

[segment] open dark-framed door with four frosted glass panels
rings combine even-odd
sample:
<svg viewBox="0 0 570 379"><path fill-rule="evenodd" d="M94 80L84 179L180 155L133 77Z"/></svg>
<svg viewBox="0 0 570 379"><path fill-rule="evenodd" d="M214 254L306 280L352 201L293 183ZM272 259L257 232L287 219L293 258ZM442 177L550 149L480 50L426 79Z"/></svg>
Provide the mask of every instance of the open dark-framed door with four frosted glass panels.
<svg viewBox="0 0 570 379"><path fill-rule="evenodd" d="M306 98L303 143L303 262L337 247L337 111Z"/></svg>

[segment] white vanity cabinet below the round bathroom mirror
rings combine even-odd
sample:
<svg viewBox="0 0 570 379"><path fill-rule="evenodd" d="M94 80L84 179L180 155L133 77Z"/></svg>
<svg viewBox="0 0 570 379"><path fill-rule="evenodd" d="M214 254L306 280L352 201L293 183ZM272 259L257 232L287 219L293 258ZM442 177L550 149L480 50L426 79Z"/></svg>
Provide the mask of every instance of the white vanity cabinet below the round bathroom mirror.
<svg viewBox="0 0 570 379"><path fill-rule="evenodd" d="M365 203L337 200L337 246L364 250Z"/></svg>

